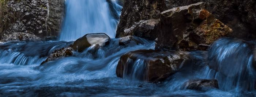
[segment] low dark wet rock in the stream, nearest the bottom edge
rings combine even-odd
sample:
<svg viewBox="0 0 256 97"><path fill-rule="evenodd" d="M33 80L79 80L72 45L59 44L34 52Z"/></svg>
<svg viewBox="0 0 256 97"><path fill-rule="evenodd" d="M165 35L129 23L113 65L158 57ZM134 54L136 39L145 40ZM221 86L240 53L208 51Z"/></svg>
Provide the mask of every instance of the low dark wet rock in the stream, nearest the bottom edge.
<svg viewBox="0 0 256 97"><path fill-rule="evenodd" d="M199 80L191 80L184 84L185 89L191 90L207 90L211 88L219 88L218 81L216 79L199 79Z"/></svg>

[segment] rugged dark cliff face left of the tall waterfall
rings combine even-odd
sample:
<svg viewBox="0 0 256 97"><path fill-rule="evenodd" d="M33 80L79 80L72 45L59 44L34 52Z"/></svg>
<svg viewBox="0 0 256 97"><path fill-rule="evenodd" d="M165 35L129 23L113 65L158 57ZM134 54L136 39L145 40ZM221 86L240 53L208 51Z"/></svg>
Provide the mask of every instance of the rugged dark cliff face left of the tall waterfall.
<svg viewBox="0 0 256 97"><path fill-rule="evenodd" d="M1 5L0 40L6 41L13 33L39 38L59 35L64 0L5 0Z"/></svg>

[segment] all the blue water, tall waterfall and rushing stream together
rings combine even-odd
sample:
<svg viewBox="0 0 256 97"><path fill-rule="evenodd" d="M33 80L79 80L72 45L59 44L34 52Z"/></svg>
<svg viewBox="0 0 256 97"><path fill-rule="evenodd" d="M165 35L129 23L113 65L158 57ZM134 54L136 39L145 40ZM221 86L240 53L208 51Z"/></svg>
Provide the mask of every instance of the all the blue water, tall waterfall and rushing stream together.
<svg viewBox="0 0 256 97"><path fill-rule="evenodd" d="M120 15L121 7L112 0ZM110 15L105 0L66 0L67 12L60 40L75 40L91 32L106 32L112 38L118 19ZM208 51L193 51L189 69L180 70L163 83L141 81L146 61L132 61L132 70L116 77L121 55L134 50L154 49L155 43L120 46L120 39L94 51L41 62L56 49L72 42L7 42L0 44L1 96L256 96L253 50L255 41L223 38ZM136 44L136 43L135 43ZM93 53L91 52L93 50ZM129 60L127 61L129 62ZM193 79L217 79L219 89L205 91L184 89Z"/></svg>

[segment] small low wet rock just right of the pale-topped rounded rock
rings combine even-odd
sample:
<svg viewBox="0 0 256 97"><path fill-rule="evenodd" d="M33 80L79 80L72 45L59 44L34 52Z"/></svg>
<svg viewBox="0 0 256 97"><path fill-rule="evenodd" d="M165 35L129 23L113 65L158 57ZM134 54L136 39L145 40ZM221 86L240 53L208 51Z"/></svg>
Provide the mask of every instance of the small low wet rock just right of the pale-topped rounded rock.
<svg viewBox="0 0 256 97"><path fill-rule="evenodd" d="M136 36L125 36L120 38L119 45L120 46L134 46L138 44L146 44L149 43L148 40L136 37Z"/></svg>

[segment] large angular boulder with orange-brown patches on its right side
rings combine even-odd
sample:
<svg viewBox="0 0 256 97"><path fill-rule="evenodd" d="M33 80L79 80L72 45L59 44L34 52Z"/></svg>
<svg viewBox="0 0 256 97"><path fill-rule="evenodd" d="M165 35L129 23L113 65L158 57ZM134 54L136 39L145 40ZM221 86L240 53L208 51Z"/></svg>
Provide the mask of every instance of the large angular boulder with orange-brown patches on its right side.
<svg viewBox="0 0 256 97"><path fill-rule="evenodd" d="M162 12L156 49L206 50L199 44L210 45L231 34L232 29L204 9L204 5L196 3Z"/></svg>

